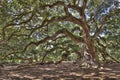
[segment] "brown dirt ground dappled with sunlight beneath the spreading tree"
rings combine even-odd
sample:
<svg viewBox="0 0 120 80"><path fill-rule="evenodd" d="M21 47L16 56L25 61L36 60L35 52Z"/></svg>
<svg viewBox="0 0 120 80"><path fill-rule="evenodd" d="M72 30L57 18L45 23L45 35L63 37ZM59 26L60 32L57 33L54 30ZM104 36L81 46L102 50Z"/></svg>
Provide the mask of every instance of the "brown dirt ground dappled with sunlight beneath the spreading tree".
<svg viewBox="0 0 120 80"><path fill-rule="evenodd" d="M73 63L4 64L0 80L120 80L120 63L104 64L101 68L81 68Z"/></svg>

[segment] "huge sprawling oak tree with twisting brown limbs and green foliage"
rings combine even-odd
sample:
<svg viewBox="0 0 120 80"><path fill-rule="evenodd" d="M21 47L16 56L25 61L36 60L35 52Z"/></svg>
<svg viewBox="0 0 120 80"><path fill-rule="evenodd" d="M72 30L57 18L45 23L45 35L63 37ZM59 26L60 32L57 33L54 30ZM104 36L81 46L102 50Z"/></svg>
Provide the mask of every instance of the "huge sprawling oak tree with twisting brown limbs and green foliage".
<svg viewBox="0 0 120 80"><path fill-rule="evenodd" d="M117 61L119 0L1 0L0 8L0 60L56 60L86 49L93 61Z"/></svg>

